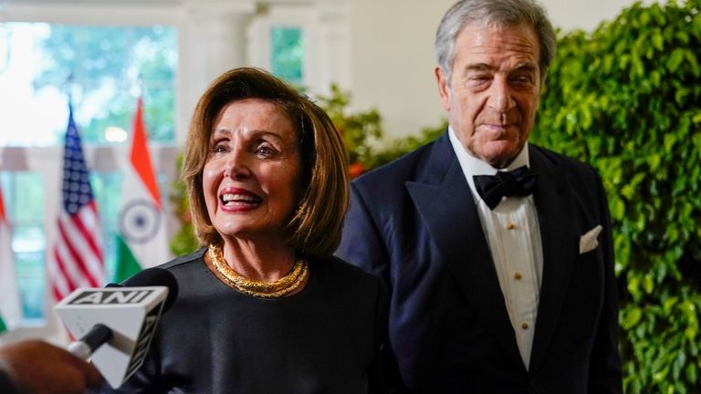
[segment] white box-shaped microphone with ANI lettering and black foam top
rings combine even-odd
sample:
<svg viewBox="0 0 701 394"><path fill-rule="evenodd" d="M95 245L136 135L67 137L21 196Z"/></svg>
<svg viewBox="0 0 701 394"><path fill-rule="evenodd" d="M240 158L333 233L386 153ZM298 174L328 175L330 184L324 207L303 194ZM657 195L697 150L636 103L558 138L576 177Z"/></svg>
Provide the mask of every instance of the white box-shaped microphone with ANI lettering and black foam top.
<svg viewBox="0 0 701 394"><path fill-rule="evenodd" d="M113 389L141 367L158 320L177 296L177 280L162 268L148 268L122 285L82 287L54 308L73 337L68 346L88 359Z"/></svg>

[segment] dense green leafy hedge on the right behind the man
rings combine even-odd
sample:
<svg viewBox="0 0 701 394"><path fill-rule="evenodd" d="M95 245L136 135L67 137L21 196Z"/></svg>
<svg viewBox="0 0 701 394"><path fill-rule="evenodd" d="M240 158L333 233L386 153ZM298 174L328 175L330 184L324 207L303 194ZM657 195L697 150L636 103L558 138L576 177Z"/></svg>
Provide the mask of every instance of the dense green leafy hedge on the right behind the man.
<svg viewBox="0 0 701 394"><path fill-rule="evenodd" d="M636 3L561 35L532 137L602 174L628 393L701 390L700 8Z"/></svg>

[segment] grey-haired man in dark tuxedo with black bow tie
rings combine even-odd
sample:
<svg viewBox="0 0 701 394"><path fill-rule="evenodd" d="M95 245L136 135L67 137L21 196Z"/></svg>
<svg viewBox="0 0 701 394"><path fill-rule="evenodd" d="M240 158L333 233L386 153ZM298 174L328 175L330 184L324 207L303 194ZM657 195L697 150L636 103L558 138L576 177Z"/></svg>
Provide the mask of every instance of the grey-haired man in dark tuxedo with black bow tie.
<svg viewBox="0 0 701 394"><path fill-rule="evenodd" d="M457 3L435 40L448 130L352 183L337 254L391 289L409 391L622 392L602 181L527 142L554 52L531 0Z"/></svg>

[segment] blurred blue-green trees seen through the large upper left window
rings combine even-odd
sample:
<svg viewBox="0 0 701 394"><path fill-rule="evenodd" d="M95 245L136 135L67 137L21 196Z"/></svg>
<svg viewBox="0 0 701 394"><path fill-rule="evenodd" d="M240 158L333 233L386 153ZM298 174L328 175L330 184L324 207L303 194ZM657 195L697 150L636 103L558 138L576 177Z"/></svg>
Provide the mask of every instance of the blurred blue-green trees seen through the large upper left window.
<svg viewBox="0 0 701 394"><path fill-rule="evenodd" d="M175 39L174 30L162 26L51 25L40 42L43 59L35 86L80 87L81 94L73 97L78 112L84 102L100 106L81 125L83 140L101 143L109 126L131 130L135 98L142 94L150 139L172 141Z"/></svg>

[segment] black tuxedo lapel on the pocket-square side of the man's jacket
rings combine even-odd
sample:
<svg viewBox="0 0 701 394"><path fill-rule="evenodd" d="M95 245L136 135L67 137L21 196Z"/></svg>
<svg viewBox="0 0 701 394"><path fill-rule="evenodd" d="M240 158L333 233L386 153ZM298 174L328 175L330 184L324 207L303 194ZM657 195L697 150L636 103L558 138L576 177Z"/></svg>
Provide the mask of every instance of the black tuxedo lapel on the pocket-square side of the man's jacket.
<svg viewBox="0 0 701 394"><path fill-rule="evenodd" d="M543 248L543 277L540 286L538 319L533 338L529 370L537 370L555 332L562 304L570 283L576 257L576 234L572 231L570 190L562 166L548 161L540 150L530 146L530 166L538 174L534 200L538 209Z"/></svg>

